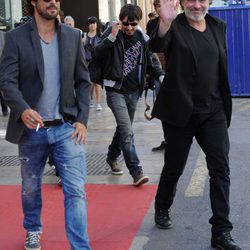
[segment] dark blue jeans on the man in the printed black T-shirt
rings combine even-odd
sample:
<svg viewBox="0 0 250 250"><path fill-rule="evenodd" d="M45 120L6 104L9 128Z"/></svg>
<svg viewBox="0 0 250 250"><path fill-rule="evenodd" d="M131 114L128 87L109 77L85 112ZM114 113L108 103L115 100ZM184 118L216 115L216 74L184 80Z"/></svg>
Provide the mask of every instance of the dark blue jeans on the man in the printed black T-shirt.
<svg viewBox="0 0 250 250"><path fill-rule="evenodd" d="M109 145L108 159L116 161L122 151L126 166L132 176L141 170L139 166L140 161L135 150L132 129L138 100L139 91L132 94L107 91L107 104L112 110L117 124L112 142Z"/></svg>

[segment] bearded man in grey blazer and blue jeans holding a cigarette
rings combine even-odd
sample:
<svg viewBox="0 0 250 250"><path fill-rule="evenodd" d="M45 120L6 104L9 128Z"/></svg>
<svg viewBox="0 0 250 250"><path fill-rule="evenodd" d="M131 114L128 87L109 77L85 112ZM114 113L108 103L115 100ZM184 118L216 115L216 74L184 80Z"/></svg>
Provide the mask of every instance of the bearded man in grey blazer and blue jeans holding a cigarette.
<svg viewBox="0 0 250 250"><path fill-rule="evenodd" d="M29 0L33 21L6 34L0 88L11 109L6 139L21 160L25 249L41 249L41 184L49 154L62 179L72 250L90 249L84 143L90 79L81 34L58 23L59 0Z"/></svg>

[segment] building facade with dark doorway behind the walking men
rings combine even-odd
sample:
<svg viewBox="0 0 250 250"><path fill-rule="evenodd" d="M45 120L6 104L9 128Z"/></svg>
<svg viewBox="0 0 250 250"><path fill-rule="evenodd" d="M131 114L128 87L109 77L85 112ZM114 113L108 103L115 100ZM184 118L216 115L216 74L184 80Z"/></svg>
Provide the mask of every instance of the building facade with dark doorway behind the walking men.
<svg viewBox="0 0 250 250"><path fill-rule="evenodd" d="M127 3L137 4L142 8L144 19L141 26L145 28L147 14L153 10L153 0L64 0L61 9L65 15L72 16L76 21L76 27L87 29L86 21L89 16L96 16L106 23L118 19L120 8ZM0 0L0 29L14 28L20 19L26 16L25 0Z"/></svg>

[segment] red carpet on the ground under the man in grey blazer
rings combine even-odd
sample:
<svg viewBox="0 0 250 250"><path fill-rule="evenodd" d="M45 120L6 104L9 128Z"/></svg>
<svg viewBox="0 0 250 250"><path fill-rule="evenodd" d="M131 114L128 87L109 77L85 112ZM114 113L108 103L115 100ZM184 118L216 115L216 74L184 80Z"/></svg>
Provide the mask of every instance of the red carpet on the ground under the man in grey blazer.
<svg viewBox="0 0 250 250"><path fill-rule="evenodd" d="M20 186L0 186L0 249L22 250ZM86 185L92 250L128 250L154 198L156 186ZM43 250L69 250L64 230L63 194L43 186Z"/></svg>

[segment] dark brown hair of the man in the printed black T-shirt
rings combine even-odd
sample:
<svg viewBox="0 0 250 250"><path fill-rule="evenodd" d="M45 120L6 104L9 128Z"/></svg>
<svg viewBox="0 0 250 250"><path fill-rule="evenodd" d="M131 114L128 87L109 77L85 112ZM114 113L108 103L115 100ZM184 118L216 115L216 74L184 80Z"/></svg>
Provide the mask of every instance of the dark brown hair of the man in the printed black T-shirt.
<svg viewBox="0 0 250 250"><path fill-rule="evenodd" d="M140 21L142 19L142 10L138 5L125 4L120 10L120 21L122 21L125 17L128 17L129 21Z"/></svg>

